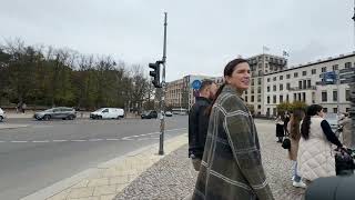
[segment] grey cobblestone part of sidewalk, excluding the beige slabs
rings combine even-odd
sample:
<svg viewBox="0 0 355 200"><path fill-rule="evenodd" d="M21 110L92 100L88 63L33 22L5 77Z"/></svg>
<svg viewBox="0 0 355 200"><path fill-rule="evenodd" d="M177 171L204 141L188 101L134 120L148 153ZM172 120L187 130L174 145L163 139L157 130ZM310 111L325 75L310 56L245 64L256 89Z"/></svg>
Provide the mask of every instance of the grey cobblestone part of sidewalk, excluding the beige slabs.
<svg viewBox="0 0 355 200"><path fill-rule="evenodd" d="M297 189L291 181L291 161L287 151L276 143L274 126L257 124L262 146L263 164L267 181L276 200L301 200L304 189ZM261 131L262 130L262 131ZM193 191L197 173L186 158L187 146L166 156L143 172L115 200L126 199L184 199Z"/></svg>

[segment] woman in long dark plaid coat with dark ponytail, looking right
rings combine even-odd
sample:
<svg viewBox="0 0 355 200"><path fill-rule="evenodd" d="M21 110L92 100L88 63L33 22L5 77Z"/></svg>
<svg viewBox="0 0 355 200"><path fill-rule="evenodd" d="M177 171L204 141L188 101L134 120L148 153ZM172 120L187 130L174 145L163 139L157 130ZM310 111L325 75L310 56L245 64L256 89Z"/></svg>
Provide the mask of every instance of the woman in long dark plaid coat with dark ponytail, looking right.
<svg viewBox="0 0 355 200"><path fill-rule="evenodd" d="M211 104L210 124L193 200L273 200L262 166L258 137L242 93L250 84L244 59L224 68L225 82Z"/></svg>

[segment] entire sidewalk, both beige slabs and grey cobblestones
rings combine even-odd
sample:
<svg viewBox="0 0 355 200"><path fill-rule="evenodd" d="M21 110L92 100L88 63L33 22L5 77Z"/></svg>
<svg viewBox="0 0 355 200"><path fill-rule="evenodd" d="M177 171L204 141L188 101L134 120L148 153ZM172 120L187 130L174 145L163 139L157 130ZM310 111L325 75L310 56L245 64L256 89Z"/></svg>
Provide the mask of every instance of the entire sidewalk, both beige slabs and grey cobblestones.
<svg viewBox="0 0 355 200"><path fill-rule="evenodd" d="M291 182L291 162L286 151L275 142L274 126L257 123L267 180L276 200L300 200L303 189ZM47 196L48 200L104 199L183 199L191 193L196 173L186 158L187 136L164 142L165 157L158 156L158 144L129 153L98 167L94 173ZM52 191L53 192L53 191ZM172 194L173 196L170 196ZM28 199L45 199L40 196Z"/></svg>

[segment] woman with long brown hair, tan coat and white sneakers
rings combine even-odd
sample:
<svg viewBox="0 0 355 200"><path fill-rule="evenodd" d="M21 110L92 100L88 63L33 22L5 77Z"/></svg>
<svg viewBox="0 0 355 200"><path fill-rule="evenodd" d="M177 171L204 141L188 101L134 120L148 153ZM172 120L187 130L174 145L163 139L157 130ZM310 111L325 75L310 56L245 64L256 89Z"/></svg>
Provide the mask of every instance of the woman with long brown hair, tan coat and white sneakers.
<svg viewBox="0 0 355 200"><path fill-rule="evenodd" d="M306 188L306 184L302 181L302 178L297 173L297 151L298 142L301 139L300 124L304 117L302 110L295 110L287 126L287 131L290 132L291 149L288 150L288 158L293 161L293 177L292 186L296 188Z"/></svg>

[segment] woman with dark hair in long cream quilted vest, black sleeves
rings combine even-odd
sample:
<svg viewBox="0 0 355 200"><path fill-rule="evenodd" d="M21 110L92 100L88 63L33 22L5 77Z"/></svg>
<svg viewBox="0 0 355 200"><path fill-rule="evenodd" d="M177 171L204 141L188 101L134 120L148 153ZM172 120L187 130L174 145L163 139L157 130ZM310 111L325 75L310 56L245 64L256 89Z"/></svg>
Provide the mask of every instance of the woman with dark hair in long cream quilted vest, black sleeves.
<svg viewBox="0 0 355 200"><path fill-rule="evenodd" d="M308 181L320 177L335 176L335 158L332 143L342 148L320 104L307 108L301 124L301 140L297 153L297 171Z"/></svg>

